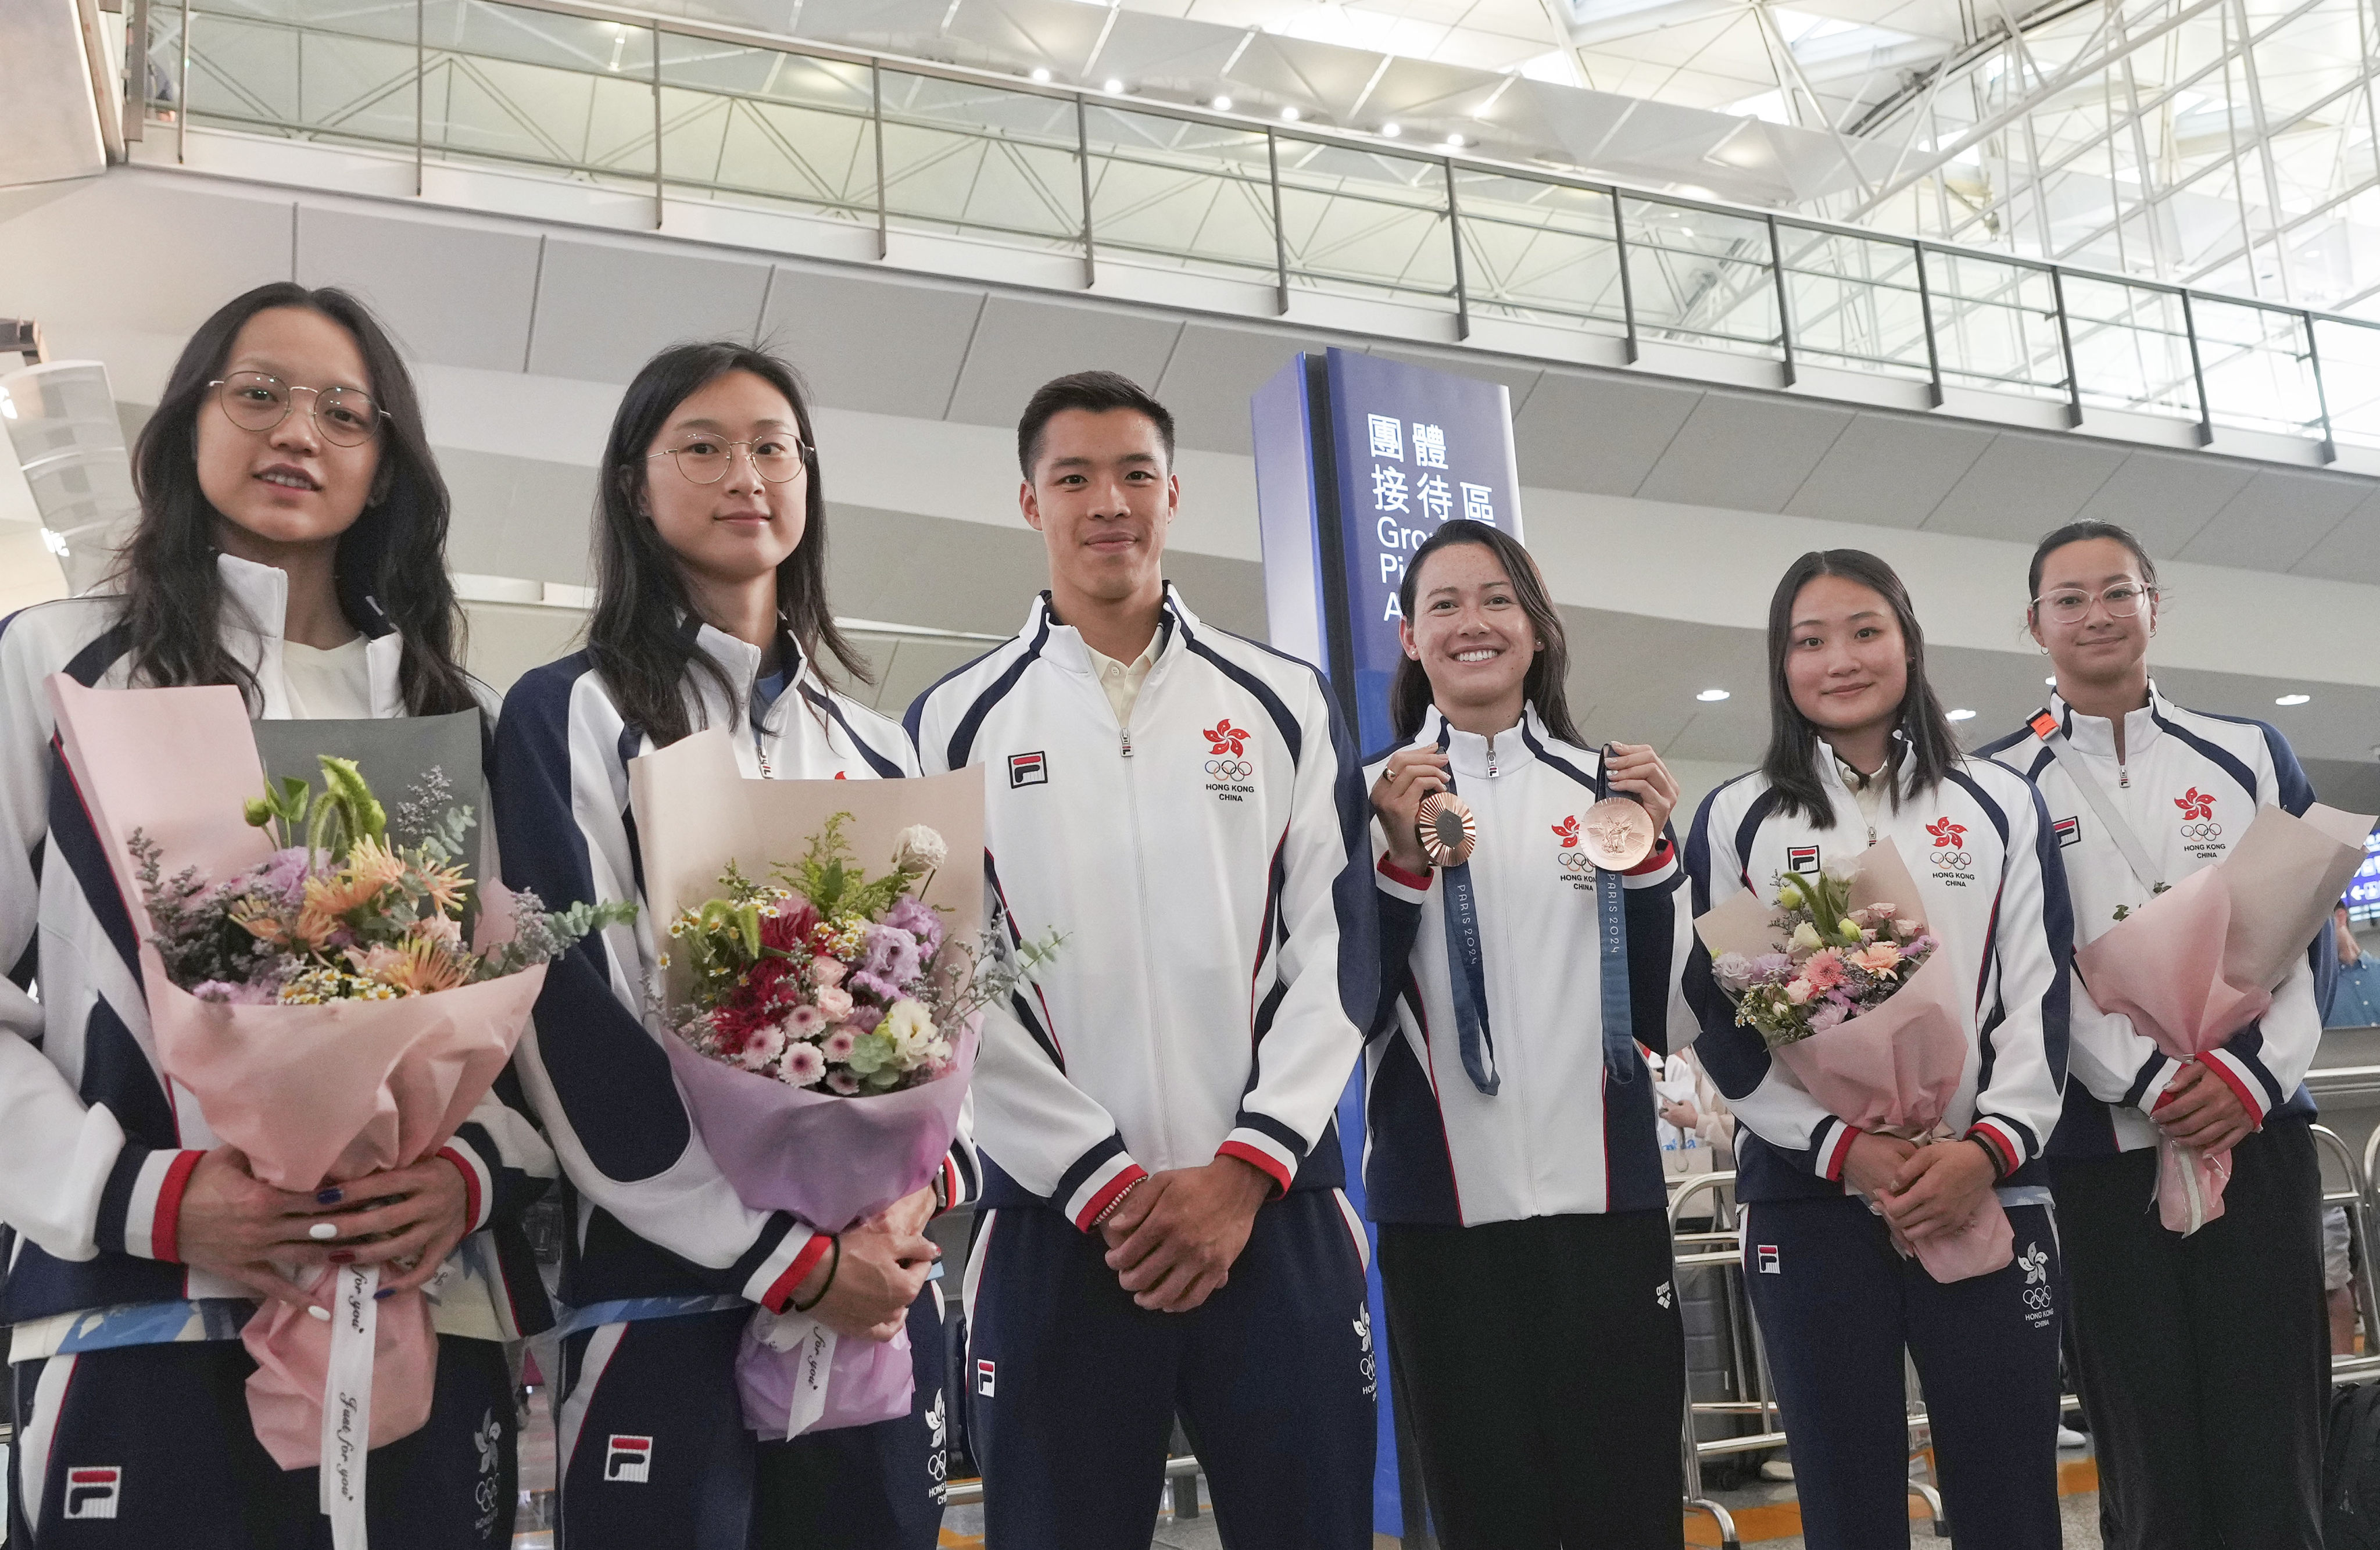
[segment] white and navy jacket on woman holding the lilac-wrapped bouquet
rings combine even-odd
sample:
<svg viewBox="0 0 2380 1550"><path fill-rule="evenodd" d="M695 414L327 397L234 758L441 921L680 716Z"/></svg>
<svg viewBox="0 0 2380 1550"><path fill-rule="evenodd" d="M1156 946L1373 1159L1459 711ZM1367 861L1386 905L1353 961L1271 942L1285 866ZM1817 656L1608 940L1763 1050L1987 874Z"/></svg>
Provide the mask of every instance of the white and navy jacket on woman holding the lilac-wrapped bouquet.
<svg viewBox="0 0 2380 1550"><path fill-rule="evenodd" d="M726 669L733 698L688 671L695 726L740 729L745 776L783 781L900 779L916 755L900 726L826 688L783 640L788 690L754 712L762 652L688 621L695 648ZM652 752L624 721L588 652L550 662L505 695L495 740L495 819L505 881L550 910L576 900L643 902L628 760ZM581 1310L645 1298L743 1298L783 1312L828 1250L790 1212L752 1210L695 1133L669 1055L647 1024L657 967L643 912L583 940L545 974L533 1029L514 1057L576 1193L562 1298ZM952 1200L973 1186L966 1140L952 1148Z"/></svg>

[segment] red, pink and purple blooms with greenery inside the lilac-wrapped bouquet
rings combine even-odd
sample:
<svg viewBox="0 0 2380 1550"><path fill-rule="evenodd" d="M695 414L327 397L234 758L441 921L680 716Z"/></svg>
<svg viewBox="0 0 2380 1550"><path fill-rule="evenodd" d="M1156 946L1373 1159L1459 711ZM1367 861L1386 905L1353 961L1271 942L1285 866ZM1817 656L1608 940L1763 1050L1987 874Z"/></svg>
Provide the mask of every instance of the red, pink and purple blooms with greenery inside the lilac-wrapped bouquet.
<svg viewBox="0 0 2380 1550"><path fill-rule="evenodd" d="M869 1098L950 1071L966 1021L1057 943L1019 955L995 940L950 943L945 962L942 917L914 890L950 845L912 824L895 836L892 871L871 879L843 838L850 819L828 814L774 883L728 862L719 895L669 921L662 967L685 962L693 1002L666 1021L702 1055L790 1088Z"/></svg>

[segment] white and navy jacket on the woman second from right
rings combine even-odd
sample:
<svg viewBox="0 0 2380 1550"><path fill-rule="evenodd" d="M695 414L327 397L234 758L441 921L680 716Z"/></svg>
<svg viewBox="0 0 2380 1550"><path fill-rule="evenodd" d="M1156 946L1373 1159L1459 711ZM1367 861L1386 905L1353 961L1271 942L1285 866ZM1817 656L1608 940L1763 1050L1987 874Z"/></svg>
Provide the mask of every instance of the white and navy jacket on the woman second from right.
<svg viewBox="0 0 2380 1550"><path fill-rule="evenodd" d="M1759 771L1704 798L1685 845L1695 917L1745 888L1773 900L1780 871L1818 871L1868 848L1868 819L1823 743L1816 767L1830 829L1783 814ZM1990 760L1961 760L1933 790L1902 781L1899 810L1890 798L1878 807L1873 838L1899 845L1918 912L1973 986L1966 1076L1944 1124L1990 1143L2004 1188L2044 1183L2035 1162L2056 1129L2066 1083L2073 957L2056 836L2033 786ZM1702 1067L1742 1126L1737 1198L1840 1193L1856 1131L1768 1057L1756 1029L1735 1024L1699 938L1685 960L1685 998L1702 1021Z"/></svg>

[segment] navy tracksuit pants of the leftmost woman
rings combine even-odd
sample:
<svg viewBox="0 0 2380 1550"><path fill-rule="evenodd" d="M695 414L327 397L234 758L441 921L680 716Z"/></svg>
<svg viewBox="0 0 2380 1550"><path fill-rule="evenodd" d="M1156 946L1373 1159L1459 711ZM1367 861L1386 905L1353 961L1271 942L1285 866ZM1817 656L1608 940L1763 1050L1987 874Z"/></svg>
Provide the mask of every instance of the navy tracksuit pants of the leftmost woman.
<svg viewBox="0 0 2380 1550"><path fill-rule="evenodd" d="M238 1340L119 1345L19 1362L12 1550L328 1550L314 1469L274 1462L248 1421ZM374 1550L512 1543L512 1369L495 1340L438 1340L421 1431L371 1450Z"/></svg>

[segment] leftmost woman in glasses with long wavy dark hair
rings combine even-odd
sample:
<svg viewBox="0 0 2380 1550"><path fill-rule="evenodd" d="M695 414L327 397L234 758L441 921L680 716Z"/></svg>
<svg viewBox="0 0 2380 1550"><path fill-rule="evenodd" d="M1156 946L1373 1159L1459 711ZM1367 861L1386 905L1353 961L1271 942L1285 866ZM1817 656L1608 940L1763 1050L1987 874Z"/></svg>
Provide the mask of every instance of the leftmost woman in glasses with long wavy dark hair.
<svg viewBox="0 0 2380 1550"><path fill-rule="evenodd" d="M133 921L62 764L45 679L228 683L264 719L471 710L443 550L447 495L412 379L340 290L262 286L209 317L133 448L140 519L114 583L0 626L0 1293L19 1467L10 1545L309 1543L312 1469L257 1443L240 1326L300 1300L274 1264L381 1264L424 1286L555 1174L486 1100L424 1164L290 1195L214 1145L150 1045ZM171 748L159 748L171 757ZM38 981L38 1005L24 988ZM324 1229L317 1240L309 1229ZM383 1545L512 1538L502 1338L545 1321L533 1269L447 1276L428 1424L371 1455ZM383 1293L386 1295L386 1293Z"/></svg>

